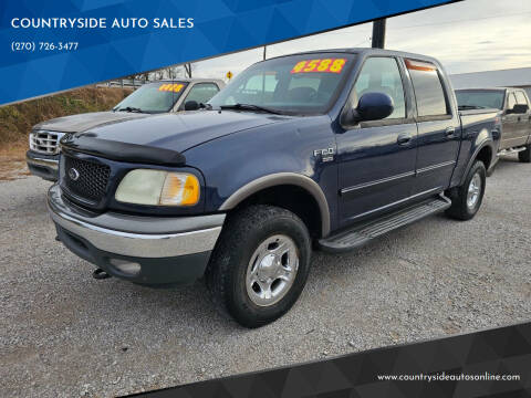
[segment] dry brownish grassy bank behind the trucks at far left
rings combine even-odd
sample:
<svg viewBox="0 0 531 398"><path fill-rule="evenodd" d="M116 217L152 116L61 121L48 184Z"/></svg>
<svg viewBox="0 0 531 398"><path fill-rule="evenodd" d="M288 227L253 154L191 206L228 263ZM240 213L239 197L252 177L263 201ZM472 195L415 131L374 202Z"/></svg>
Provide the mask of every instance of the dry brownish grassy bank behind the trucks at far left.
<svg viewBox="0 0 531 398"><path fill-rule="evenodd" d="M0 180L28 175L25 151L31 128L51 118L108 111L131 94L116 87L84 87L0 107Z"/></svg>

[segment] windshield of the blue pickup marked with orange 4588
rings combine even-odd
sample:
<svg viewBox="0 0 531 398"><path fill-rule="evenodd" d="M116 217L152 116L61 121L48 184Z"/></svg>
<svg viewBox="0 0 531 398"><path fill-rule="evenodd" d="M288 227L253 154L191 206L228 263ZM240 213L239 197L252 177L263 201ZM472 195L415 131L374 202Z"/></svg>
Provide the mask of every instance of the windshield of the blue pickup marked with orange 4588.
<svg viewBox="0 0 531 398"><path fill-rule="evenodd" d="M250 111L261 107L285 114L322 114L339 95L353 60L353 54L322 53L260 62L241 72L209 104Z"/></svg>

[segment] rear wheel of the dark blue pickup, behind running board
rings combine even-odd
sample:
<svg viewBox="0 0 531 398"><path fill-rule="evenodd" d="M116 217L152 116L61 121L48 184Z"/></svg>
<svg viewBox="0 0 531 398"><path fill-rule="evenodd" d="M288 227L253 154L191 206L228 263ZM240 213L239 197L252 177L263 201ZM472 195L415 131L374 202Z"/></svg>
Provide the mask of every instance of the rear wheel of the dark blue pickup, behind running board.
<svg viewBox="0 0 531 398"><path fill-rule="evenodd" d="M449 217L466 221L476 216L483 200L486 176L483 163L476 160L465 184L450 191L451 207L446 211Z"/></svg>

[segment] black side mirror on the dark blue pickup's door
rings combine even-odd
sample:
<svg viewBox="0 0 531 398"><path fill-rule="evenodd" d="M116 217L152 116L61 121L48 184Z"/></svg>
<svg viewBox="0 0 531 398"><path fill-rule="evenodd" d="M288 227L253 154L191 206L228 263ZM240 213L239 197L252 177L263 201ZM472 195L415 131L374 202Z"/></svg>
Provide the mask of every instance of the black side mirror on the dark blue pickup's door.
<svg viewBox="0 0 531 398"><path fill-rule="evenodd" d="M395 106L393 98L385 93L365 93L360 98L357 107L350 109L342 118L344 125L355 125L360 122L381 121L389 116Z"/></svg>

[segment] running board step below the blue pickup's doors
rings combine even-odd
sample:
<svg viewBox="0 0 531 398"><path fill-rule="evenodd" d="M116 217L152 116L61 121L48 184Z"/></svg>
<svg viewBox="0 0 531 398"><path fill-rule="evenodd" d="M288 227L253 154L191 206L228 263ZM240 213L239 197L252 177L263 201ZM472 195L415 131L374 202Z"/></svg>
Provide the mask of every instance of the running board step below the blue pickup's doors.
<svg viewBox="0 0 531 398"><path fill-rule="evenodd" d="M377 220L355 226L335 235L320 239L319 247L326 252L343 253L356 249L371 240L425 217L448 209L451 200L442 193L418 205L386 214Z"/></svg>

